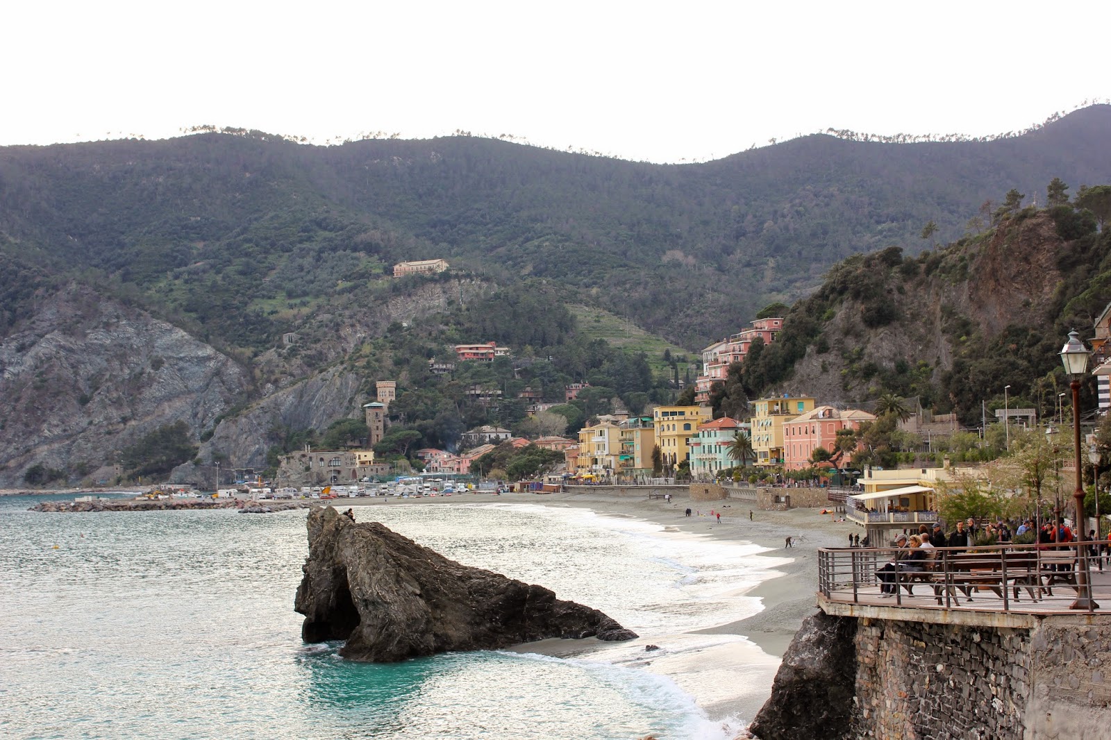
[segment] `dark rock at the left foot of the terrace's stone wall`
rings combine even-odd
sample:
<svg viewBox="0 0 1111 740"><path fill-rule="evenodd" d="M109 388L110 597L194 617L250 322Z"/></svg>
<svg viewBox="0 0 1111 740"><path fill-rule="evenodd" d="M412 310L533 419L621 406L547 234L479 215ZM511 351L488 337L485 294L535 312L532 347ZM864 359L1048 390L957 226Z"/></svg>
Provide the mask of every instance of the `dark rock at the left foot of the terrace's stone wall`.
<svg viewBox="0 0 1111 740"><path fill-rule="evenodd" d="M855 619L822 611L803 620L749 732L765 740L848 738L855 706Z"/></svg>

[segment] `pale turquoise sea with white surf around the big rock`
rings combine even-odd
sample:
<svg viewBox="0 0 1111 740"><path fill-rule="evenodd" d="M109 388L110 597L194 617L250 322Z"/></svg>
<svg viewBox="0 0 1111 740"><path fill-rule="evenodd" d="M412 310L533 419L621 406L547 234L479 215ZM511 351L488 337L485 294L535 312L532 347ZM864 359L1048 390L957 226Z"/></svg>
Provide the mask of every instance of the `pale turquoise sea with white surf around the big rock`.
<svg viewBox="0 0 1111 740"><path fill-rule="evenodd" d="M778 662L702 632L760 609L777 561L743 542L536 503L357 507L641 636L370 664L301 641L304 510L28 511L47 498L0 497L2 738L717 740Z"/></svg>

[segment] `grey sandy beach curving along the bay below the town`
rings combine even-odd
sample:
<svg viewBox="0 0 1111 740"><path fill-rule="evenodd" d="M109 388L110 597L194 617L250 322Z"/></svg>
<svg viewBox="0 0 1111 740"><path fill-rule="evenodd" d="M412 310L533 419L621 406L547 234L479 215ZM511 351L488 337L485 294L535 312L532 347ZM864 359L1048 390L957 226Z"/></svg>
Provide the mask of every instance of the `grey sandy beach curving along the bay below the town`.
<svg viewBox="0 0 1111 740"><path fill-rule="evenodd" d="M848 534L860 533L848 522L834 521L821 509L792 509L790 511L759 511L742 501L691 502L687 496L677 494L671 502L647 497L617 496L605 492L590 493L463 493L452 497L422 499L340 499L332 506L356 509L357 520L363 520L359 509L373 506L451 506L452 503L530 503L549 507L575 507L611 517L625 517L658 523L665 531L682 532L733 542L745 542L765 550L761 556L773 563L772 577L760 581L750 590L739 592L760 599L761 611L752 617L728 624L701 630L701 633L738 636L738 640L695 653L645 653L645 663L652 670L672 678L687 689L687 678L698 673L699 690L691 690L699 704L711 719L752 719L771 692L771 683L779 659L790 644L802 620L812 614L818 591L817 549L843 547ZM684 516L690 507L693 514ZM721 520L710 511L721 512ZM366 511L366 510L364 510ZM749 519L749 512L752 519ZM369 514L370 512L366 512ZM700 516L701 514L701 516ZM785 548L787 537L793 547ZM743 638L743 639L741 639ZM560 657L574 657L597 651L599 643L546 640L519 648L522 652L542 652ZM661 646L667 648L667 646ZM602 647L602 649L613 649ZM709 694L705 690L707 673L720 672L720 690Z"/></svg>

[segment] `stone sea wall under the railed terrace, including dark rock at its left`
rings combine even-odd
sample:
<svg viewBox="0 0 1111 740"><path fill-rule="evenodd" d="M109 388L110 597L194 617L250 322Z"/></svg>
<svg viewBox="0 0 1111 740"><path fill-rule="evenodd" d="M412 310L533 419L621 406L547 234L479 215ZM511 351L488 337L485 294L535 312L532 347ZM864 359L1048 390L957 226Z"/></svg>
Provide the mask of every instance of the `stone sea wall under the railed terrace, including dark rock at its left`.
<svg viewBox="0 0 1111 740"><path fill-rule="evenodd" d="M750 732L765 740L1108 737L1111 618L999 621L989 614L981 624L953 624L818 612L783 656ZM815 644L814 634L825 640ZM845 669L853 687L848 702L845 682L829 679ZM827 693L814 696L822 684Z"/></svg>

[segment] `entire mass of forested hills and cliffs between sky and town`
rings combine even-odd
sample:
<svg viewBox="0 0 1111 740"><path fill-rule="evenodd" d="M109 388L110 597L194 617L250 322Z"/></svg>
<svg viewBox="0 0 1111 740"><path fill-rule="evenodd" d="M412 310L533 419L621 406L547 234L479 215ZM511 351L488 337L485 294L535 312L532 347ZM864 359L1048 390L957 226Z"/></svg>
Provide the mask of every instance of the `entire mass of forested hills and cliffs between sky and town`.
<svg viewBox="0 0 1111 740"><path fill-rule="evenodd" d="M376 380L398 382L393 429L416 444L450 447L479 423L524 431L522 392L560 401L587 381L534 424L573 430L673 400L681 347L800 297L719 410L804 382L827 400L915 393L971 418L998 392L992 362L1021 369L1011 384L1051 382L1031 358L1071 301L1107 300L1094 217L1023 206L1054 178L1072 192L1111 181L1109 129L1097 106L1010 139L813 136L684 166L463 137L3 148L0 483L77 482L136 450L159 471L184 462L181 476L262 468L357 434ZM430 257L452 270L389 277ZM602 317L679 347L610 346ZM451 344L479 341L513 361L433 372Z"/></svg>

